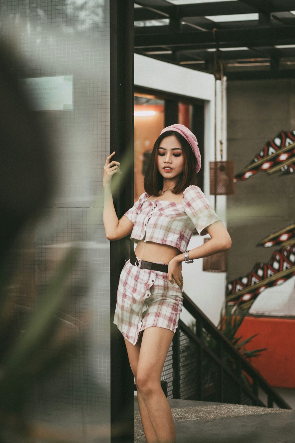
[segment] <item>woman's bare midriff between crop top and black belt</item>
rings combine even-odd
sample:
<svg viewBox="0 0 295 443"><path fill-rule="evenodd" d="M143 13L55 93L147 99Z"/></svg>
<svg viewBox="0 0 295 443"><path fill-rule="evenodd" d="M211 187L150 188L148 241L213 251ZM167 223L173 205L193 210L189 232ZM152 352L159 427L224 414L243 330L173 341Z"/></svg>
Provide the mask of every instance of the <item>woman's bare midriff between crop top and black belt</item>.
<svg viewBox="0 0 295 443"><path fill-rule="evenodd" d="M161 261L169 264L169 261L176 255L181 254L180 250L174 246L161 245L153 241L138 241L135 248L135 255L145 261Z"/></svg>

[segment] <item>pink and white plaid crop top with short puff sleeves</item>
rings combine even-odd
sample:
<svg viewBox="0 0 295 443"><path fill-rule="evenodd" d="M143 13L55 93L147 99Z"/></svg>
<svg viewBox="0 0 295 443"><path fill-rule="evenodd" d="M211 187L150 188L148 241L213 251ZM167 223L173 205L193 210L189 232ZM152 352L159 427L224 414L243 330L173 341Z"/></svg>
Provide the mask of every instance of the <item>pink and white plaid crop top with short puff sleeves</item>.
<svg viewBox="0 0 295 443"><path fill-rule="evenodd" d="M134 225L131 240L135 243L153 241L185 252L195 227L200 235L206 235L205 228L220 220L207 197L194 185L184 190L181 203L148 198L144 192L124 214Z"/></svg>

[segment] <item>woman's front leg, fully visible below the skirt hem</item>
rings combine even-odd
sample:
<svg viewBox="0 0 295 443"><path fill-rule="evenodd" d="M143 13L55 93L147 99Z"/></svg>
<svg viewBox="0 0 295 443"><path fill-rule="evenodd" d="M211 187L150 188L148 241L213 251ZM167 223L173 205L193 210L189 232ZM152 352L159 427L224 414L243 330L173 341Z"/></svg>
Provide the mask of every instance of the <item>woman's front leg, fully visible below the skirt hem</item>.
<svg viewBox="0 0 295 443"><path fill-rule="evenodd" d="M161 388L161 373L173 336L171 330L157 326L144 330L137 366L137 389L160 443L176 442L171 408Z"/></svg>

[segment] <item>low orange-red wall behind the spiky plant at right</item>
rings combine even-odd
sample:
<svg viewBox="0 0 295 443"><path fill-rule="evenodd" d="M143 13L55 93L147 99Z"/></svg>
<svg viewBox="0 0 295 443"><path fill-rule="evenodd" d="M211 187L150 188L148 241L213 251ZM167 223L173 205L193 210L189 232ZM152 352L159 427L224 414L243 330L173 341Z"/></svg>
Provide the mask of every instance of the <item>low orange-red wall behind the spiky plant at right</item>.
<svg viewBox="0 0 295 443"><path fill-rule="evenodd" d="M246 348L268 350L251 364L270 385L295 388L295 319L245 317L237 336L246 339L257 333Z"/></svg>

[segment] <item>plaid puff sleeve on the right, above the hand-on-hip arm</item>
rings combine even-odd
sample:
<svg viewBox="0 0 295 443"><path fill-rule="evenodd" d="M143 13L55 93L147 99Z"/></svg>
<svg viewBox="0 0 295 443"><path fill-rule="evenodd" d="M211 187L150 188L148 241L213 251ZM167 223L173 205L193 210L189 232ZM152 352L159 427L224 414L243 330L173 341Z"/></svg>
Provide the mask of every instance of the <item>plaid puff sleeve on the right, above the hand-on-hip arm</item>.
<svg viewBox="0 0 295 443"><path fill-rule="evenodd" d="M182 203L200 235L206 235L205 228L220 220L205 194L197 186L191 185L184 190Z"/></svg>

